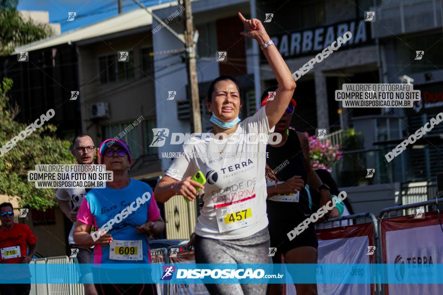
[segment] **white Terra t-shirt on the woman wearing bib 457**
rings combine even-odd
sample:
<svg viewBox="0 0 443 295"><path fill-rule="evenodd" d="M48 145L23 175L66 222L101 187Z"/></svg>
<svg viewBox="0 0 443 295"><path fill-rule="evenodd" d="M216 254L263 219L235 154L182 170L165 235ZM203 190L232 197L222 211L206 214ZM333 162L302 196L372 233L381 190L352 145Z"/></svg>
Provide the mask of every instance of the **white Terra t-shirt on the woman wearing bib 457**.
<svg viewBox="0 0 443 295"><path fill-rule="evenodd" d="M265 108L239 124L235 137L245 138L255 133L266 137L266 141L249 143L240 140L237 144L216 144L215 139L206 138L203 143L184 144L182 152L218 154L260 153L260 157L182 157L176 158L166 175L182 180L194 176L200 170L207 182L204 184L204 206L195 226L199 236L220 240L249 237L268 225L266 216L265 165L266 142L269 129ZM230 134L233 136L234 134ZM253 137L249 137L250 140ZM191 138L190 140L193 140ZM257 187L260 186L260 189Z"/></svg>

